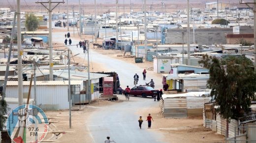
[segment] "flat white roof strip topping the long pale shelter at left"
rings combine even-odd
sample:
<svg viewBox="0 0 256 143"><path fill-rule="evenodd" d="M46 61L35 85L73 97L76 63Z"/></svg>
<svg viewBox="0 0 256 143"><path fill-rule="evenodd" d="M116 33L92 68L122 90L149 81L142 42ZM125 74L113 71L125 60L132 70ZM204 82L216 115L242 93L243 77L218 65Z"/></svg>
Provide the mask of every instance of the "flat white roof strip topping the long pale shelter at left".
<svg viewBox="0 0 256 143"><path fill-rule="evenodd" d="M80 85L83 80L70 80L70 85ZM18 81L7 81L7 86L17 86ZM23 81L23 85L30 85L30 81ZM32 82L33 85L33 82ZM63 81L36 81L36 85L68 85L68 80Z"/></svg>

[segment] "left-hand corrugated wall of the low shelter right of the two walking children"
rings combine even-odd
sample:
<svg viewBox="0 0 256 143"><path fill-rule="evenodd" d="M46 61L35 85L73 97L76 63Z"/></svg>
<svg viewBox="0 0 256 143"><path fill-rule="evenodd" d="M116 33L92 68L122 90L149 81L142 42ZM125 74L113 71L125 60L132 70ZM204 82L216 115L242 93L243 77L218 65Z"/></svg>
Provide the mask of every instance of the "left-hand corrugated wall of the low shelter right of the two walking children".
<svg viewBox="0 0 256 143"><path fill-rule="evenodd" d="M163 115L164 118L187 118L186 98L166 98Z"/></svg>

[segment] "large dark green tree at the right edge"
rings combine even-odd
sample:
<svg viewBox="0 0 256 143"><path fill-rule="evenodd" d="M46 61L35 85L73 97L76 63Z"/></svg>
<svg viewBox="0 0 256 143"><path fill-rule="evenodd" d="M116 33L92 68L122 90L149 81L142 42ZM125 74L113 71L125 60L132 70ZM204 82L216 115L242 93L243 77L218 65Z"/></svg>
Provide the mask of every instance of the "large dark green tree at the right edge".
<svg viewBox="0 0 256 143"><path fill-rule="evenodd" d="M211 89L210 96L213 97L217 109L223 118L237 119L248 113L251 101L255 100L256 72L253 62L244 56L228 56L224 59L205 56L199 63L206 64L210 77L207 87Z"/></svg>

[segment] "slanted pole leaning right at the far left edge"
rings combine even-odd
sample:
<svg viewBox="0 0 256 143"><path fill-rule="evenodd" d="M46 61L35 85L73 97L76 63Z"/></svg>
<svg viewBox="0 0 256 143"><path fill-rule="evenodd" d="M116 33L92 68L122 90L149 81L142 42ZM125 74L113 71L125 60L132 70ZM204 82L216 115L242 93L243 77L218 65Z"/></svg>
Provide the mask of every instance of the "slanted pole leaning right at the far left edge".
<svg viewBox="0 0 256 143"><path fill-rule="evenodd" d="M15 28L16 15L17 15L17 12L14 12L12 29ZM10 60L11 60L11 50L12 50L12 45L13 45L13 36L14 36L14 30L11 31L10 47L9 47L9 52L8 52L7 64L6 64L6 70L5 70L3 88L2 88L2 93L3 93L2 100L4 100L4 97L5 97L6 84L7 84L7 80L8 80L8 72L9 72Z"/></svg>

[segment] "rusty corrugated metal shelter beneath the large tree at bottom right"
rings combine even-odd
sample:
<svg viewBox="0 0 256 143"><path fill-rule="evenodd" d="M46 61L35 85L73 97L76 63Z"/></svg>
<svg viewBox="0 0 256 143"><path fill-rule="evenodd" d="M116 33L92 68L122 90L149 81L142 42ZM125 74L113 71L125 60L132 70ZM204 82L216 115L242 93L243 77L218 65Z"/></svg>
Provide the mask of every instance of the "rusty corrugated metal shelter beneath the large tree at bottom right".
<svg viewBox="0 0 256 143"><path fill-rule="evenodd" d="M226 119L218 112L214 103L205 103L203 109L203 126L226 136ZM245 113L244 117L230 119L228 122L228 141L227 143L248 143L256 142L256 104L251 105L251 111Z"/></svg>

